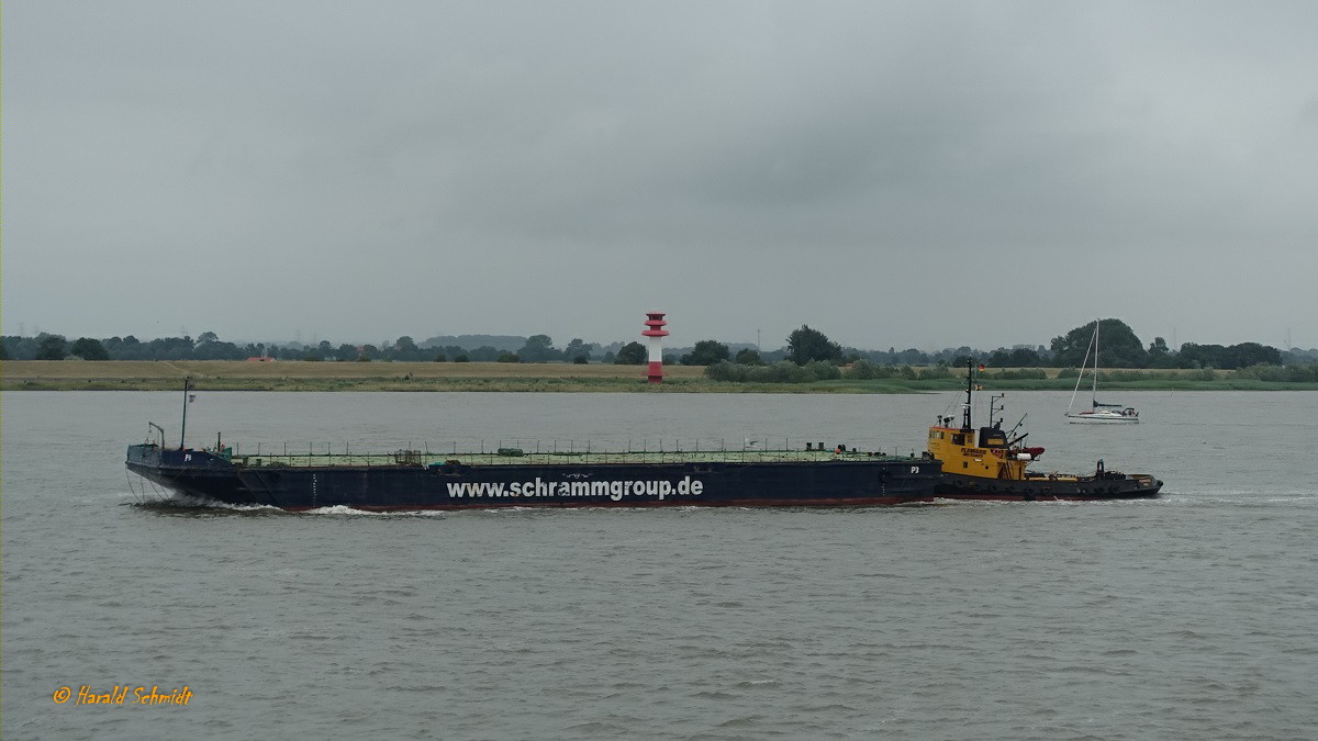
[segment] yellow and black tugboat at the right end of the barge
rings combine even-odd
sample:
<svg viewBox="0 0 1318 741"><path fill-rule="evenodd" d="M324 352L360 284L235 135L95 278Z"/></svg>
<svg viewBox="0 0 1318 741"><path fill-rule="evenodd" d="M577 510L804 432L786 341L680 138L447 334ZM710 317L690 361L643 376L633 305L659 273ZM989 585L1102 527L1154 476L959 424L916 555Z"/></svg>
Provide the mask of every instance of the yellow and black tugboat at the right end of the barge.
<svg viewBox="0 0 1318 741"><path fill-rule="evenodd" d="M983 370L983 367L979 367ZM929 450L925 458L942 463L942 476L936 487L937 496L949 500L1006 500L1006 501L1106 501L1156 497L1162 481L1148 473L1122 473L1111 471L1099 460L1094 473L1035 473L1028 465L1044 454L1041 447L1025 447L1029 435L1016 435L1016 429L1006 431L1002 421L994 419L995 403L1002 397L991 397L988 426L974 429L970 409L974 402L975 367L966 365L966 401L962 405L961 427L953 427L953 417L940 417L929 427ZM1024 418L1021 418L1024 422Z"/></svg>

